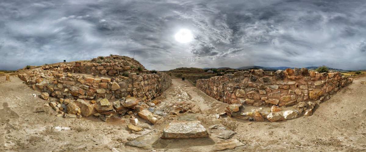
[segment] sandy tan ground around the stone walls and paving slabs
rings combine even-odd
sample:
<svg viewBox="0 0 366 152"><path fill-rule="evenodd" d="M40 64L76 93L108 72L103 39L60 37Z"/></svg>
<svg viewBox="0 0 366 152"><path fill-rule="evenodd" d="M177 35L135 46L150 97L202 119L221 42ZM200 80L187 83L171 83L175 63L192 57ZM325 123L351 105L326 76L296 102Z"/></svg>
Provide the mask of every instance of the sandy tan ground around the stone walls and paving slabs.
<svg viewBox="0 0 366 152"><path fill-rule="evenodd" d="M0 79L5 79L1 76ZM158 97L155 109L168 111L177 103L193 106L193 113L168 115L150 125L140 119L145 129L161 132L169 121L194 114L210 133L209 138L163 140L150 150L124 145L141 136L126 129L127 118L103 122L94 117L61 118L47 101L32 94L40 93L27 87L17 77L0 83L0 151L215 151L219 130L212 125L227 126L237 134L231 139L244 146L227 151L366 151L366 85L354 83L320 104L312 116L282 122L252 122L223 117L226 104L202 93L187 81L173 79L172 86ZM169 108L168 108L169 107ZM246 107L250 108L250 107ZM147 132L146 130L145 132Z"/></svg>

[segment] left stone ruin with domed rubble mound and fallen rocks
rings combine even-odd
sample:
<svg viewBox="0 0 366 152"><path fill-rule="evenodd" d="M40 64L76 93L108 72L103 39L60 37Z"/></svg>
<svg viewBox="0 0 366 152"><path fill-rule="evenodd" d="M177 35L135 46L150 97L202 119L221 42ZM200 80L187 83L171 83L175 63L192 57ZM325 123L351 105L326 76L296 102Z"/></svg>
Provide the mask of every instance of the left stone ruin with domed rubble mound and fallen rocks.
<svg viewBox="0 0 366 152"><path fill-rule="evenodd" d="M41 98L49 100L49 105L64 117L94 115L104 121L114 114L141 112L157 104L153 98L172 83L168 74L149 73L125 56L105 57L103 63L93 61L98 60L42 66L18 77L41 91ZM139 66L142 70L137 70ZM148 118L156 122L155 117Z"/></svg>

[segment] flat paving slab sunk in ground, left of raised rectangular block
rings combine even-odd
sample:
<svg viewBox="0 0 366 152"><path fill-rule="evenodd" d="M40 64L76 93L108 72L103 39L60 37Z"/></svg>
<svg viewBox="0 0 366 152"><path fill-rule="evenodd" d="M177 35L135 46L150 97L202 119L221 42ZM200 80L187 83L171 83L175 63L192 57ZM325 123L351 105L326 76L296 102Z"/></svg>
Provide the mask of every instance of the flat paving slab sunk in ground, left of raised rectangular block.
<svg viewBox="0 0 366 152"><path fill-rule="evenodd" d="M157 130L153 130L150 133L143 135L143 136L139 136L134 140L128 141L127 143L125 143L128 146L133 146L133 147L139 147L142 149L151 149L152 145L158 141L160 137L158 136L158 132Z"/></svg>

